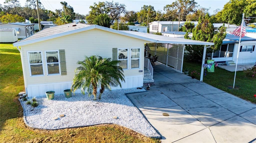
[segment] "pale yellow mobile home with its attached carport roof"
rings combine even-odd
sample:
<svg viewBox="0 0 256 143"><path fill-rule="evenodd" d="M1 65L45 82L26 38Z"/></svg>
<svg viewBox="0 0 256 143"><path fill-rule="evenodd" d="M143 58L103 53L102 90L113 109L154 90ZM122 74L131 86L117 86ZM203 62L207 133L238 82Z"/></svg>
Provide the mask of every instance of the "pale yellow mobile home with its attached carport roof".
<svg viewBox="0 0 256 143"><path fill-rule="evenodd" d="M47 28L13 45L20 51L26 93L32 97L44 96L49 90L62 94L63 90L70 89L74 70L78 66L76 63L84 60L85 55L122 61L119 65L124 69L125 76L122 88L141 87L144 80L145 43L173 43L181 51L184 51L182 44L213 45L209 42L118 31L81 23ZM183 52L179 52L179 58L183 58L182 55ZM174 62L177 64L177 61ZM182 64L178 66L182 69Z"/></svg>

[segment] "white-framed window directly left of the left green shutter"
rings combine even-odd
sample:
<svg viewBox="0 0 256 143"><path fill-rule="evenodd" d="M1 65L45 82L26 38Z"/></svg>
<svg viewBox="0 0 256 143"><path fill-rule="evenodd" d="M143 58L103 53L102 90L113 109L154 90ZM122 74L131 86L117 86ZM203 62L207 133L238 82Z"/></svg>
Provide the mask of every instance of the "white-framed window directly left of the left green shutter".
<svg viewBox="0 0 256 143"><path fill-rule="evenodd" d="M59 51L45 51L47 75L60 75Z"/></svg>

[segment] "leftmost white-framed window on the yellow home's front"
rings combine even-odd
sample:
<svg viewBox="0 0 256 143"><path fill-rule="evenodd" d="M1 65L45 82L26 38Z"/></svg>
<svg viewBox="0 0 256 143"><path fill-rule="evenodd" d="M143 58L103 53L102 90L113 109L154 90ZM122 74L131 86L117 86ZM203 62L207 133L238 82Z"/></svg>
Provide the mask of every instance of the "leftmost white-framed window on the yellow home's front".
<svg viewBox="0 0 256 143"><path fill-rule="evenodd" d="M31 77L44 76L44 62L41 51L28 51L29 74Z"/></svg>

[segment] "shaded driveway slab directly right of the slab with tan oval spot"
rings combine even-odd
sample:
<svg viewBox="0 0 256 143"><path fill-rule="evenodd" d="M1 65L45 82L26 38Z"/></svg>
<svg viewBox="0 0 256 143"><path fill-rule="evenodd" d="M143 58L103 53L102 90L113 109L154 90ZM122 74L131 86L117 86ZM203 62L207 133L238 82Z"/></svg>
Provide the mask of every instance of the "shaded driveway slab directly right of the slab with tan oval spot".
<svg viewBox="0 0 256 143"><path fill-rule="evenodd" d="M207 127L236 116L236 114L223 107L198 107L184 109Z"/></svg>

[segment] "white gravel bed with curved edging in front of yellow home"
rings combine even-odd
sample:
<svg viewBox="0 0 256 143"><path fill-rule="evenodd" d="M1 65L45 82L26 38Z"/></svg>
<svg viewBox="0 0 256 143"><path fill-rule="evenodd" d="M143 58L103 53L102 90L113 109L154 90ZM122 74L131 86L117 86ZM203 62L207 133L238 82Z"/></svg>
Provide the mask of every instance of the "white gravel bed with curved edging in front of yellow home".
<svg viewBox="0 0 256 143"><path fill-rule="evenodd" d="M87 94L76 93L71 98L66 98L64 94L60 94L55 95L53 100L48 100L46 96L36 97L39 106L35 108L26 105L26 101L22 101L22 104L25 108L27 123L36 128L58 129L114 123L147 136L159 136L140 111L124 95L124 93L140 91L145 90L131 88L105 91L102 94L102 99L97 98L97 101L93 101L93 95L88 97ZM60 118L61 114L64 114L65 117ZM113 119L113 116L117 116L118 119ZM53 120L54 117L59 117L59 119Z"/></svg>

